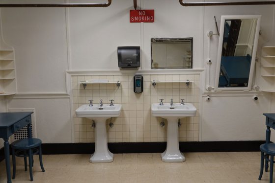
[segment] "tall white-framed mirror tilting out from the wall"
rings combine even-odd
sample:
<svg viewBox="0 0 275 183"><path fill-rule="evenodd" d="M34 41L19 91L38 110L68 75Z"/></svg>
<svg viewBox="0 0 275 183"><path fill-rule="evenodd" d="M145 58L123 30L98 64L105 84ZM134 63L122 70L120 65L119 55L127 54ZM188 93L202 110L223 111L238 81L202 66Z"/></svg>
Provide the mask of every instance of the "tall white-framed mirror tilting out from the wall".
<svg viewBox="0 0 275 183"><path fill-rule="evenodd" d="M260 17L221 16L215 91L251 89Z"/></svg>

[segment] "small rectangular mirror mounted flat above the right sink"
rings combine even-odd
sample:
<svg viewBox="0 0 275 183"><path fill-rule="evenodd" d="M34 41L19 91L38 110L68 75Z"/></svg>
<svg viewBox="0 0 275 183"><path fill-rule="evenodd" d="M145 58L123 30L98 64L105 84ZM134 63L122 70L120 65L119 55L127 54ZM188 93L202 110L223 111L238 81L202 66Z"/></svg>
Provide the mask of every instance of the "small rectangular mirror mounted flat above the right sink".
<svg viewBox="0 0 275 183"><path fill-rule="evenodd" d="M192 69L193 38L152 38L152 69Z"/></svg>

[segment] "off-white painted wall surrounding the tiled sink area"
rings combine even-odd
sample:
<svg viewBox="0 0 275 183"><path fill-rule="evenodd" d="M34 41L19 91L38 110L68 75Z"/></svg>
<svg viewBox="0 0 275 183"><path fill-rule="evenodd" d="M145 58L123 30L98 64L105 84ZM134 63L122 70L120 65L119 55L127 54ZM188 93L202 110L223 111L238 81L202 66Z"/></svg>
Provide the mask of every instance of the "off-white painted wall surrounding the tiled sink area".
<svg viewBox="0 0 275 183"><path fill-rule="evenodd" d="M119 70L117 46L141 46L140 70L148 70L151 68L152 37L193 37L193 66L204 67L208 73L207 33L216 32L214 16L220 27L221 15L262 15L259 46L272 35L272 5L183 7L176 0L138 0L138 6L154 9L155 23L129 23L129 10L134 9L131 0L113 0L107 8L1 8L4 40L15 48L20 93L11 98L7 106L35 108L37 135L43 142L73 142L71 81L65 77L66 70ZM218 40L214 35L210 43L212 86ZM201 78L200 94L208 84L204 79ZM242 94L217 94L209 103L204 97L200 98L200 140L264 139L262 113L269 112L271 98L264 93L255 103L250 96L240 96ZM59 98L60 95L64 98ZM2 102L0 106L5 106ZM249 128L245 129L248 124Z"/></svg>

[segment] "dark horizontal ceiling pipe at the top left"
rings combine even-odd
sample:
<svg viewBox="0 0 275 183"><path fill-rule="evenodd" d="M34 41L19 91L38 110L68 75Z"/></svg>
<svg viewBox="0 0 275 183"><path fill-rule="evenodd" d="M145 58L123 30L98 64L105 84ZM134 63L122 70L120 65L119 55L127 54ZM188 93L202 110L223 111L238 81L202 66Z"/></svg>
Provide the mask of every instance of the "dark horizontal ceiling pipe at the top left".
<svg viewBox="0 0 275 183"><path fill-rule="evenodd" d="M0 4L1 8L25 8L25 7L108 7L111 0L107 3L65 3L65 4Z"/></svg>

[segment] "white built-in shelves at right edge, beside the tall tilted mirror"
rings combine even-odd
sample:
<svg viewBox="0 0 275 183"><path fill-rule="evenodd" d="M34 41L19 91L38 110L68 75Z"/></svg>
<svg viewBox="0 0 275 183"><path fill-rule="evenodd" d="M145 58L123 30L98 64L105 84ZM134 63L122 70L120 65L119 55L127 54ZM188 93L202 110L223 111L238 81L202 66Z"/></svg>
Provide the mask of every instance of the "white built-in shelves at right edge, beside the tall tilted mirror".
<svg viewBox="0 0 275 183"><path fill-rule="evenodd" d="M260 90L275 92L275 46L263 46Z"/></svg>

